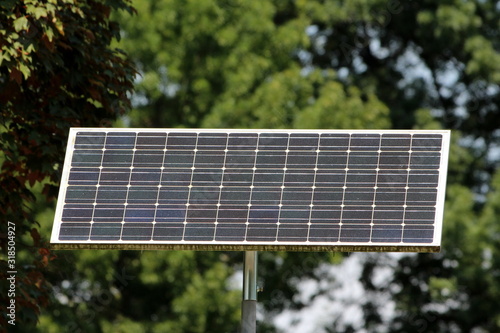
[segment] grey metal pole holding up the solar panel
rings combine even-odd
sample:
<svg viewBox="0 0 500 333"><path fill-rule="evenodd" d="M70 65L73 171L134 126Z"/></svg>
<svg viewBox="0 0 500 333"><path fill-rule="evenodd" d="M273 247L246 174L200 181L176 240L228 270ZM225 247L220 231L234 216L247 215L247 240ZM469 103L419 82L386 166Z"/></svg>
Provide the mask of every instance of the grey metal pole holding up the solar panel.
<svg viewBox="0 0 500 333"><path fill-rule="evenodd" d="M257 320L257 251L245 251L241 333L255 333Z"/></svg>

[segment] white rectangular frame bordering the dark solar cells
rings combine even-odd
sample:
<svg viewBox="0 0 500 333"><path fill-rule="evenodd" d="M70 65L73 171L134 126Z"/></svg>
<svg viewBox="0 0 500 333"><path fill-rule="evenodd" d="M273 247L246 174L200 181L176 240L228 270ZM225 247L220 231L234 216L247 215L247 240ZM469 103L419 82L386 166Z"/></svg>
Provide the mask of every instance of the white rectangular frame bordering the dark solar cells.
<svg viewBox="0 0 500 333"><path fill-rule="evenodd" d="M127 249L127 250L212 250L212 251L333 251L333 252L439 252L442 237L442 221L448 168L449 130L316 130L316 129L185 129L185 128L87 128L70 129L61 184L69 180L76 134L78 132L189 132L189 133L304 133L304 134L441 134L441 159L434 219L432 243L366 243L366 242L220 242L220 241L61 241L63 199L67 186L60 186L54 224L51 235L53 249Z"/></svg>

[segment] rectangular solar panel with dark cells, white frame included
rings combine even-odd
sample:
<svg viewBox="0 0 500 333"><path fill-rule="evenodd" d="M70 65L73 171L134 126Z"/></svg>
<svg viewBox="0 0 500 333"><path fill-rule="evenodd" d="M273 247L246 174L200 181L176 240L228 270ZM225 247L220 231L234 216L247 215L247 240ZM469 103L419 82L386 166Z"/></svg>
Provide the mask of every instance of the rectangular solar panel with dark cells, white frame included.
<svg viewBox="0 0 500 333"><path fill-rule="evenodd" d="M51 243L439 251L449 135L72 128Z"/></svg>

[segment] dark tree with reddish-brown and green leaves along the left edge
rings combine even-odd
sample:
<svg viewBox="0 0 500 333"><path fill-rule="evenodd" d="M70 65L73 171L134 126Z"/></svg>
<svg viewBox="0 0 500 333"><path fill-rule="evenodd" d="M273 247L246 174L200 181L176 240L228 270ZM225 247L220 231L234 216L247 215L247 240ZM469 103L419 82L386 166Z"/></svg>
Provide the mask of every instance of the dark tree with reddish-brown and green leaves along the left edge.
<svg viewBox="0 0 500 333"><path fill-rule="evenodd" d="M134 69L110 47L120 30L109 16L118 9L133 12L120 0L0 4L0 246L7 253L15 242L16 252L15 268L0 261L0 278L4 283L7 271L18 271L15 297L9 296L17 326L33 325L49 302L48 266L55 255L34 212L57 195L69 127L104 125L130 104ZM9 238L8 226L15 226ZM2 327L7 319L1 317Z"/></svg>

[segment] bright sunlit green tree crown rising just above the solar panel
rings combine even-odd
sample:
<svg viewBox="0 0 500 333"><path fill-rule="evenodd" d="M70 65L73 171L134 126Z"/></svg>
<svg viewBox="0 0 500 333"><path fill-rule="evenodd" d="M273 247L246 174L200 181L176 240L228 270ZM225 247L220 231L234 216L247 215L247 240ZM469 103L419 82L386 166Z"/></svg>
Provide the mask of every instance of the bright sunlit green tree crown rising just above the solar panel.
<svg viewBox="0 0 500 333"><path fill-rule="evenodd" d="M388 109L375 95L345 89L332 70L302 69L310 18L291 5L281 7L266 1L138 2L140 16L123 20L121 43L142 75L132 124L290 128L302 121L296 118L318 118L342 103L344 113L322 119L321 127L389 126ZM307 126L318 126L315 121Z"/></svg>

